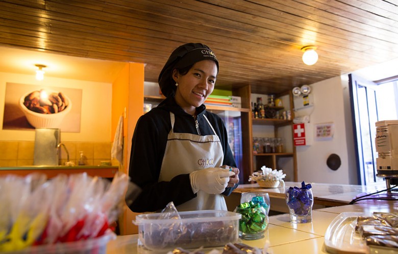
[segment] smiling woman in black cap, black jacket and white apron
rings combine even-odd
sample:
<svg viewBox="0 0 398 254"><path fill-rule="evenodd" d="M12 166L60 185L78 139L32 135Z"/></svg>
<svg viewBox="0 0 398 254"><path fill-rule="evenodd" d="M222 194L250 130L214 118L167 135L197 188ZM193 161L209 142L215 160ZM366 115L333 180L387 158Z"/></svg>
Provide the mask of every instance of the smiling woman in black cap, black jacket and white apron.
<svg viewBox="0 0 398 254"><path fill-rule="evenodd" d="M237 187L239 169L225 124L203 104L217 74L207 45L187 43L171 53L159 75L167 98L134 131L129 174L142 192L129 206L133 212L158 211L169 202L178 211L227 210L222 195Z"/></svg>

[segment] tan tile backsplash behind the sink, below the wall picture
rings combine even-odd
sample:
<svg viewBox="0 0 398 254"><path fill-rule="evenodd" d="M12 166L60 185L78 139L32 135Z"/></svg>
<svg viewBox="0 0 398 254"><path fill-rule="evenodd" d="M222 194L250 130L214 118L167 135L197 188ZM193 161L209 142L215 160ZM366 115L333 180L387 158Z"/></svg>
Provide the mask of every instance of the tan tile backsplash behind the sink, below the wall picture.
<svg viewBox="0 0 398 254"><path fill-rule="evenodd" d="M101 161L111 161L111 142L62 142L69 152L69 160L78 165L80 151L83 151L85 165L97 166ZM32 166L34 141L0 141L0 167ZM67 153L60 148L59 165L64 165ZM112 160L112 163L117 160Z"/></svg>

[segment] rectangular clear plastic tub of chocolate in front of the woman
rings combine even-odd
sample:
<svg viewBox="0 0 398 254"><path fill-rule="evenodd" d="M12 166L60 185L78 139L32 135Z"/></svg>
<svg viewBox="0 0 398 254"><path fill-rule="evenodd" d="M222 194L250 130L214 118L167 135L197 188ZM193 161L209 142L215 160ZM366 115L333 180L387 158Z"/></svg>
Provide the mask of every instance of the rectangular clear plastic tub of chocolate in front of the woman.
<svg viewBox="0 0 398 254"><path fill-rule="evenodd" d="M149 250L224 246L239 239L241 215L229 211L180 212L181 219L161 219L164 213L137 215L140 243Z"/></svg>

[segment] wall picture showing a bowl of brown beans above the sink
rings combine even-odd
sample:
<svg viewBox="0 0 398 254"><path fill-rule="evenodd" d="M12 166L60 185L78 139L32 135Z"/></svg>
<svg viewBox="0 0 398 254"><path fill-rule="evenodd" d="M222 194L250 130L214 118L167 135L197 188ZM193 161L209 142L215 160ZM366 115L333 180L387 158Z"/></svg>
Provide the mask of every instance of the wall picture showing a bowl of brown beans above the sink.
<svg viewBox="0 0 398 254"><path fill-rule="evenodd" d="M3 130L80 132L82 89L6 83Z"/></svg>

